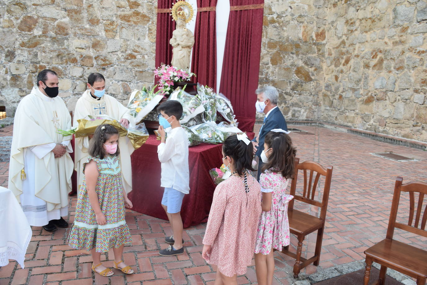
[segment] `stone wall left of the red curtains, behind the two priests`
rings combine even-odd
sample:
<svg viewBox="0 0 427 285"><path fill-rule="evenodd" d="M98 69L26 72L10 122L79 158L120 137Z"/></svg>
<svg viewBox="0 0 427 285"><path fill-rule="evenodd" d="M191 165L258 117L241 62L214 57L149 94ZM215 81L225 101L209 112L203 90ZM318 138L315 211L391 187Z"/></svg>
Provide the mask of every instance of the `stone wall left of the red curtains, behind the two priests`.
<svg viewBox="0 0 427 285"><path fill-rule="evenodd" d="M1 0L0 105L14 115L45 68L58 73L70 110L91 72L127 103L154 81L156 9L156 0Z"/></svg>

